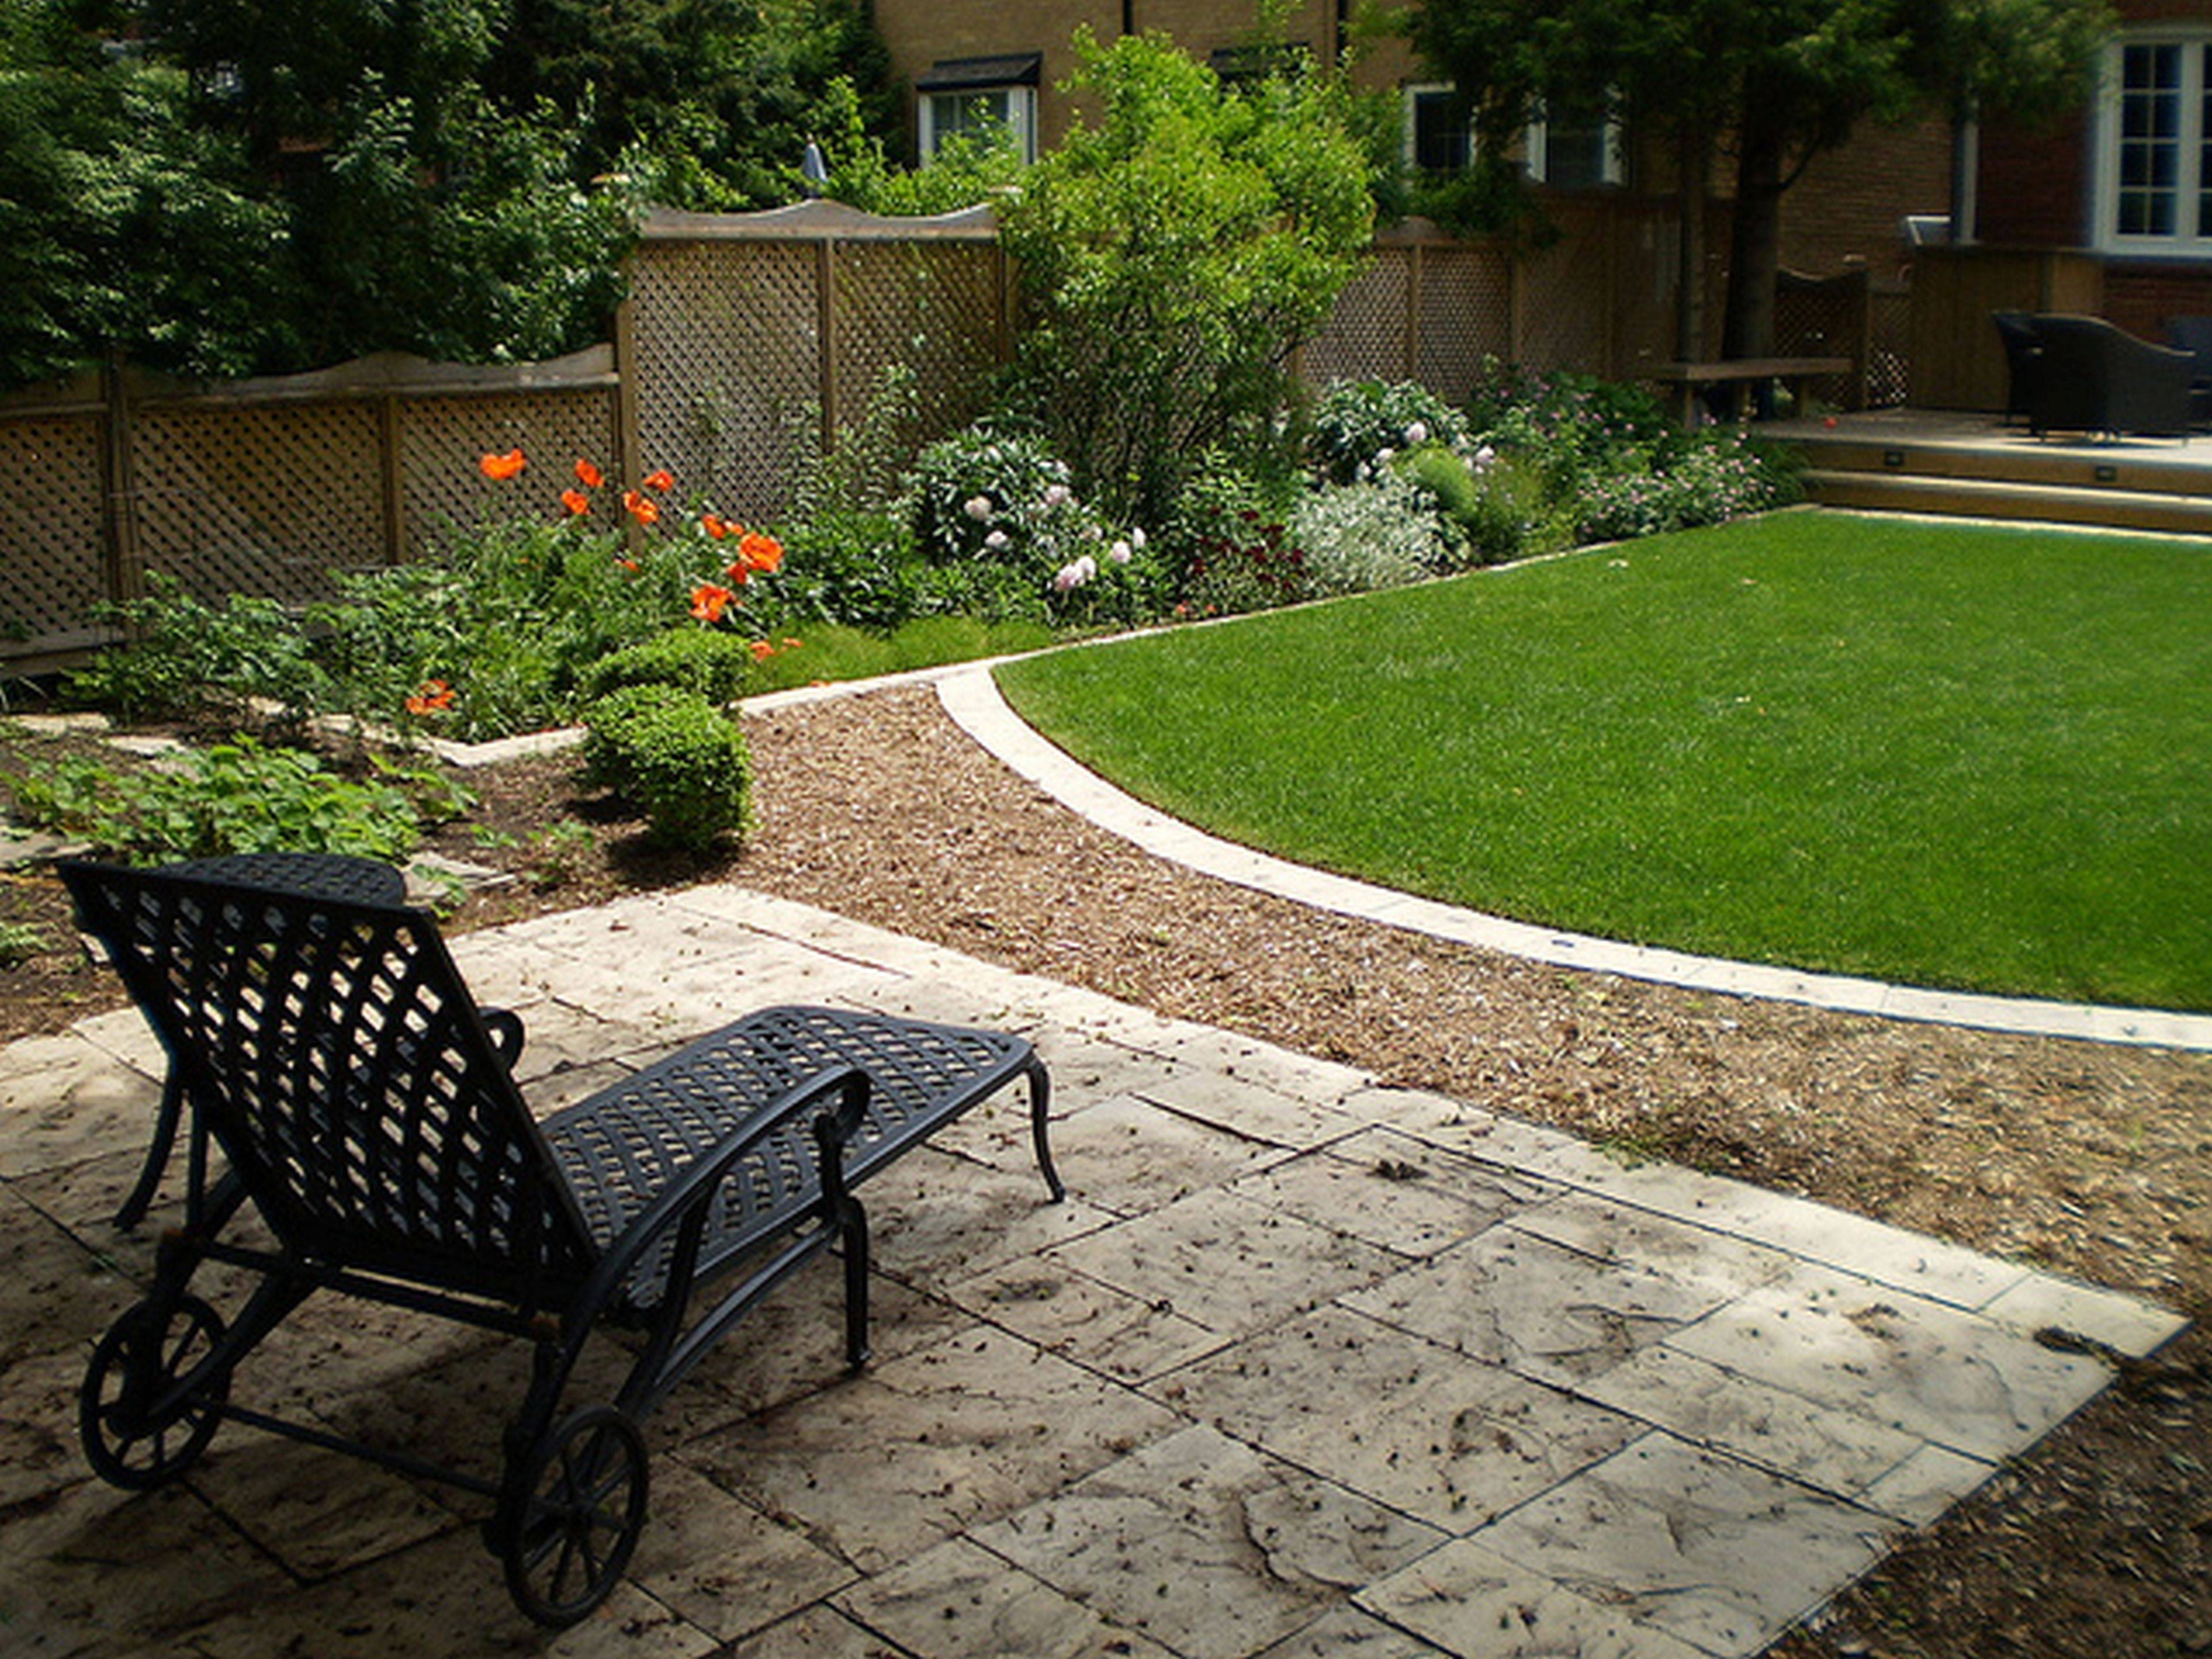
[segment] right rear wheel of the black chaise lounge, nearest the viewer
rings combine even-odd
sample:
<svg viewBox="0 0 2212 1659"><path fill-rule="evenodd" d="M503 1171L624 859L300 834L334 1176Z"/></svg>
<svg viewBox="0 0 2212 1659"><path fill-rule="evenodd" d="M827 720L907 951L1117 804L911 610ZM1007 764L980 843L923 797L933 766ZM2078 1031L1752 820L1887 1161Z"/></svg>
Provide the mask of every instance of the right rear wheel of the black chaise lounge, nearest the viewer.
<svg viewBox="0 0 2212 1659"><path fill-rule="evenodd" d="M611 1405L571 1413L511 1486L500 1528L507 1588L538 1624L575 1624L622 1582L646 1526L646 1438Z"/></svg>

